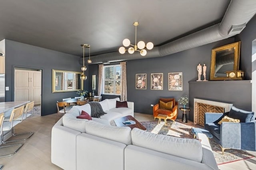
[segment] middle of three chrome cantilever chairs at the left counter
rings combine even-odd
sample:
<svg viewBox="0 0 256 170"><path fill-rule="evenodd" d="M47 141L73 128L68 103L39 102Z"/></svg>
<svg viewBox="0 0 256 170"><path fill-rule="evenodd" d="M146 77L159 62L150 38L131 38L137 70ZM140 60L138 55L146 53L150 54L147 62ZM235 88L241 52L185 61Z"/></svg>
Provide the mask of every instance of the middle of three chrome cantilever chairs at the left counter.
<svg viewBox="0 0 256 170"><path fill-rule="evenodd" d="M3 123L3 131L12 131L12 135L14 134L14 127L23 121L23 110L24 105L14 108L12 110L12 113L10 115L9 120L4 120ZM16 142L16 141L23 141L24 139L18 139L18 140L12 140L12 141L4 141L4 135L2 135L2 143L10 143L10 142Z"/></svg>

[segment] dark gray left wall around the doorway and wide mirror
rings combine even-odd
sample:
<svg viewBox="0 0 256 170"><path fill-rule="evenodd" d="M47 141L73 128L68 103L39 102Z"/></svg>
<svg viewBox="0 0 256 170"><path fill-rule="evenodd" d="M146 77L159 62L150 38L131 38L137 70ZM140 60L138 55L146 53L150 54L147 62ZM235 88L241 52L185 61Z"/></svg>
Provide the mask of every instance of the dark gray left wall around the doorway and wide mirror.
<svg viewBox="0 0 256 170"><path fill-rule="evenodd" d="M78 96L76 92L52 93L52 69L81 71L79 57L10 40L6 40L5 47L6 86L10 88L6 102L14 101L14 67L42 69L42 115L57 113L57 101ZM88 80L84 89L88 89Z"/></svg>

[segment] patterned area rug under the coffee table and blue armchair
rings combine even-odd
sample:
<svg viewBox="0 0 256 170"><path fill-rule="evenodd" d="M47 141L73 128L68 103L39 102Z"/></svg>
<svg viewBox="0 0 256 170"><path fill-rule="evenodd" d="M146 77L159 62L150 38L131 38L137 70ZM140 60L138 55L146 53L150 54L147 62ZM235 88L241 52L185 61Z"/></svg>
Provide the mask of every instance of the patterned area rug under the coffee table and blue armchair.
<svg viewBox="0 0 256 170"><path fill-rule="evenodd" d="M141 123L146 127L147 131L151 133L172 135L176 137L194 137L194 135L191 134L192 126L179 120L176 120L175 123L172 122L173 121L168 120L167 125L164 125L163 121L158 124L158 120L144 121ZM222 155L220 146L213 139L210 139L210 145L218 165L254 157L248 152L236 149L226 149Z"/></svg>

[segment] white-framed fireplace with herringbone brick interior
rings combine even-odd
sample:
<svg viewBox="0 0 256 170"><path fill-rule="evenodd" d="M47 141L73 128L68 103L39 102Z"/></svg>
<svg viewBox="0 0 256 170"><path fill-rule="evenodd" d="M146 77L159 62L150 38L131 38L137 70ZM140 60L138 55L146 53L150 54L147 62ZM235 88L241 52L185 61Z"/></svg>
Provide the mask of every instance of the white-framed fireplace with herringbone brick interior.
<svg viewBox="0 0 256 170"><path fill-rule="evenodd" d="M194 98L194 123L204 126L204 113L224 113L233 104Z"/></svg>

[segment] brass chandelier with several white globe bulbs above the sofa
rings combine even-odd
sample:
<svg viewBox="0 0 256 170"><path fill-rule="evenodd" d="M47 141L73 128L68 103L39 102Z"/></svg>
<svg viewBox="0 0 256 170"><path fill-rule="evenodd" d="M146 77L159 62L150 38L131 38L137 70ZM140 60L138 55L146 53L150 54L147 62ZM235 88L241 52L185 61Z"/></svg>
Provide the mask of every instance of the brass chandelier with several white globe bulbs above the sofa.
<svg viewBox="0 0 256 170"><path fill-rule="evenodd" d="M139 41L138 45L136 45L137 26L139 25L139 23L134 22L133 25L135 26L135 45L130 44L130 40L126 38L123 41L124 47L129 47L130 45L132 47L128 48L128 50L126 50L124 47L120 47L119 48L119 53L124 54L126 51L128 51L128 53L133 54L134 51L139 51L140 55L145 56L147 54L146 49L151 50L154 47L154 45L151 42L148 42L147 45L145 45L145 43L143 41ZM146 47L146 49L144 49L145 47Z"/></svg>

